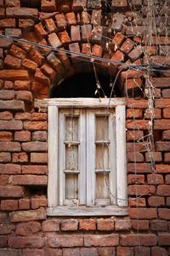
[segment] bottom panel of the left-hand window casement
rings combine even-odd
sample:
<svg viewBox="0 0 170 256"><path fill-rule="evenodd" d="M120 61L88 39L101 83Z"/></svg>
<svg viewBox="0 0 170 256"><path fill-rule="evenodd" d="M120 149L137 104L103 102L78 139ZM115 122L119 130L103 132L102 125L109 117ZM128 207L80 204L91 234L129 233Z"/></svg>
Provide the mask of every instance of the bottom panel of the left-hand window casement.
<svg viewBox="0 0 170 256"><path fill-rule="evenodd" d="M65 175L65 199L78 199L78 174Z"/></svg>

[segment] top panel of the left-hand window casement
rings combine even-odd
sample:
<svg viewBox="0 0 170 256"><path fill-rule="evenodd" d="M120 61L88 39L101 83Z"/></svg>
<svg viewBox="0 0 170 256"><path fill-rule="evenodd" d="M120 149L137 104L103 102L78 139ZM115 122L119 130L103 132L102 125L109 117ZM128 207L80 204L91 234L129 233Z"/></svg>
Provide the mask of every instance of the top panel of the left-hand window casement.
<svg viewBox="0 0 170 256"><path fill-rule="evenodd" d="M65 117L65 140L78 141L78 117Z"/></svg>

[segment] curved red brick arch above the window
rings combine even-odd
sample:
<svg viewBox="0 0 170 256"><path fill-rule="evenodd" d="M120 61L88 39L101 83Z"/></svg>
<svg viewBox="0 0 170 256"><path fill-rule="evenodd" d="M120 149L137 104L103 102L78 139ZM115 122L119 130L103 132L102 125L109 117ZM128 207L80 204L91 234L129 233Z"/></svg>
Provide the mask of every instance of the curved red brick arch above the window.
<svg viewBox="0 0 170 256"><path fill-rule="evenodd" d="M85 4L86 2L83 2L85 8L88 6ZM88 1L88 3L90 2L93 1ZM95 64L95 67L97 73L111 74L113 79L119 73L117 79L122 96L126 96L128 93L130 96L132 90L136 95L139 95L139 89L143 85L141 77L144 72L127 70L127 65L132 63L134 65L141 64L143 49L140 46L141 38L133 36L132 27L129 26L125 30L128 23L128 15L127 13L125 15L125 10L128 7L120 5L110 10L113 15L112 21L109 20L111 13L105 13L107 17L105 22L109 20L110 26L103 26L104 15L102 16L101 1L94 2L94 5L91 3L92 10L85 12L82 5L77 4L77 1L73 1L72 6L65 1L65 4L60 3L56 7L55 1L48 2L44 0L41 6L42 12L38 13L37 9L25 9L27 16L34 15L37 17L33 26L31 20L23 19L22 22L21 19L19 20L20 27L29 29L31 26L31 32L24 32L23 29L23 33L20 35L14 34L14 36L26 38L37 44L92 55L93 60L95 60L95 57L100 57L123 62L123 68L122 65L111 64L109 66L104 61L97 61L99 63ZM48 13L45 11L48 11ZM26 18L26 13L22 12L21 9L19 12L21 14L19 13L18 17ZM105 38L110 39L108 41ZM26 70L26 77L29 75L29 82L25 84L30 84L26 86L30 88L33 97L48 97L48 91L53 86L54 81L55 84L58 84L74 73L93 72L92 65L88 65L87 60L80 61L77 56L71 55L69 57L65 52L33 47L30 44L12 44L9 47L9 55L20 58L20 61L15 63L14 61L17 62L17 60L13 58L11 64L10 56L7 55L4 64L6 67ZM121 72L120 68L122 68Z"/></svg>

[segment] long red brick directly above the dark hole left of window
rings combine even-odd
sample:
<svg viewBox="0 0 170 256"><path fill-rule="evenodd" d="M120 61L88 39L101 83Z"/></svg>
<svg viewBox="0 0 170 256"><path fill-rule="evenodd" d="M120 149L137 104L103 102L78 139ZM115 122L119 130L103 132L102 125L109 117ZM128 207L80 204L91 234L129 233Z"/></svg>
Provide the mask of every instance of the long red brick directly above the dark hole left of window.
<svg viewBox="0 0 170 256"><path fill-rule="evenodd" d="M15 175L11 177L14 185L47 185L47 176L40 175Z"/></svg>

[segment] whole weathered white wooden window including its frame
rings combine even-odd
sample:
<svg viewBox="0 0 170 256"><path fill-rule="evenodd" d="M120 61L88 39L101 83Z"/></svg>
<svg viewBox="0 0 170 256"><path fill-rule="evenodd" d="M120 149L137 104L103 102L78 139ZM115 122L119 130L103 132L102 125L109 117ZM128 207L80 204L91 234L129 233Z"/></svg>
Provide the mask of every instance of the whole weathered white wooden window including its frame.
<svg viewBox="0 0 170 256"><path fill-rule="evenodd" d="M48 100L48 215L126 215L125 101Z"/></svg>

